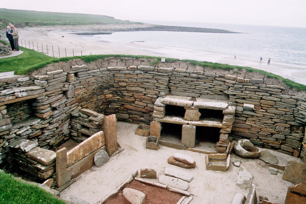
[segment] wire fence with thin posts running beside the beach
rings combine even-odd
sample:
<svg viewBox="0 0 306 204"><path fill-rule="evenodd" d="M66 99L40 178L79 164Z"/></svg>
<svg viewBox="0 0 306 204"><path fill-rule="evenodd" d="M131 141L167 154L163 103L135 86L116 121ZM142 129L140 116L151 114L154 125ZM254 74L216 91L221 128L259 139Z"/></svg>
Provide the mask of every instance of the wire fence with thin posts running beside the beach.
<svg viewBox="0 0 306 204"><path fill-rule="evenodd" d="M26 41L26 40L20 40L21 41L21 46L22 47L25 47L25 48L28 48L28 49L32 49L32 50L37 50L37 52L41 52L43 54L46 54L48 56L51 56L51 57L74 57L74 56L82 56L83 55L83 51L82 50L78 50L76 51L75 53L75 50L72 49L72 55L71 55L71 50L64 50L64 48L61 48L59 46L53 46L53 45L49 45L49 48L48 48L48 45L43 45L43 43L41 43L41 46L40 46L40 43L34 43L33 41L30 42L30 41ZM32 47L31 47L32 46ZM52 47L52 50L51 50L51 47ZM67 51L68 52L68 55L67 55ZM91 53L90 53L91 55Z"/></svg>

